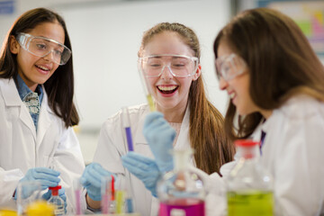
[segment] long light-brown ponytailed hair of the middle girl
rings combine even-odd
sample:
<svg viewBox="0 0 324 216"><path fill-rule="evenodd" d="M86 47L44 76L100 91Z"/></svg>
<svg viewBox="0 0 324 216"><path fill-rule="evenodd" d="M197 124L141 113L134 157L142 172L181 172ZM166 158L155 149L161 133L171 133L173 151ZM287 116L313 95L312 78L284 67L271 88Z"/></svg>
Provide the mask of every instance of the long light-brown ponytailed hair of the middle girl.
<svg viewBox="0 0 324 216"><path fill-rule="evenodd" d="M196 34L180 23L158 23L146 31L139 49L139 57L148 41L164 31L178 33L185 44L193 49L194 56L200 58L200 44ZM220 173L220 166L233 160L235 148L223 130L222 115L206 97L202 75L190 86L188 104L190 143L195 152L196 166L208 174Z"/></svg>

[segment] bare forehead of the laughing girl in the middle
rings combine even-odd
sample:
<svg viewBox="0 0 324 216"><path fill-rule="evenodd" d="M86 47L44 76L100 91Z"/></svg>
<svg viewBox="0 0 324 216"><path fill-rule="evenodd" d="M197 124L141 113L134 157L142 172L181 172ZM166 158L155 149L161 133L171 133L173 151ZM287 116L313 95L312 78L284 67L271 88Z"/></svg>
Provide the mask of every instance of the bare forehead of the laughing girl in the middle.
<svg viewBox="0 0 324 216"><path fill-rule="evenodd" d="M154 35L143 49L144 56L174 54L193 56L193 49L185 44L184 39L173 31L164 31Z"/></svg>

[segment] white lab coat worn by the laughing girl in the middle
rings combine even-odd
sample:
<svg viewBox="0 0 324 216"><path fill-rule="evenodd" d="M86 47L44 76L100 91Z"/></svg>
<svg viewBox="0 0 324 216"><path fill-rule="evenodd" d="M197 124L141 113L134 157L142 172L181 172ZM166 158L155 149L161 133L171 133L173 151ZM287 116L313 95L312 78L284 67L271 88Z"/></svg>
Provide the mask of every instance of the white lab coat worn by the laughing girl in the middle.
<svg viewBox="0 0 324 216"><path fill-rule="evenodd" d="M134 151L145 157L154 158L148 142L142 134L143 124L149 112L148 105L129 108L130 128L133 137ZM184 114L175 149L189 148L189 109ZM126 176L126 187L131 188L135 210L142 216L157 215L158 201L145 188L145 185L134 175L125 170L121 156L127 153L127 142L122 128L121 112L116 113L103 123L99 143L94 154L94 162L100 163L112 173ZM191 159L192 164L193 157Z"/></svg>

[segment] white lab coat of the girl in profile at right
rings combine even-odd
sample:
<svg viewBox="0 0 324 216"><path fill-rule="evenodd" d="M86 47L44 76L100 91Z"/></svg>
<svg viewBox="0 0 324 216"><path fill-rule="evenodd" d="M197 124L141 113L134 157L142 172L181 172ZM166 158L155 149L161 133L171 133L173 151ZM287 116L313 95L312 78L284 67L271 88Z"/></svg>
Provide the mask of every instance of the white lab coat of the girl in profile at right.
<svg viewBox="0 0 324 216"><path fill-rule="evenodd" d="M275 215L323 215L324 103L306 95L295 96L276 109L261 128L266 139L260 163L275 180ZM221 183L219 175L210 177L209 216L226 215L224 179Z"/></svg>

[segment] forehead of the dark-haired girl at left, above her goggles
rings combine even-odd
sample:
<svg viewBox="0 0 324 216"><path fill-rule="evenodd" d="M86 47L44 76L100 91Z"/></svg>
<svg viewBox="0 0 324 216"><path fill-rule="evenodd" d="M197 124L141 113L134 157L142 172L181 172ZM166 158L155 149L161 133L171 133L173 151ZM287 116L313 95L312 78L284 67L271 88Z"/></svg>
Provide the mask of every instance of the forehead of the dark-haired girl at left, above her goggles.
<svg viewBox="0 0 324 216"><path fill-rule="evenodd" d="M41 36L51 40L56 40L64 44L65 33L63 27L56 21L54 23L40 23L27 33L32 36Z"/></svg>

